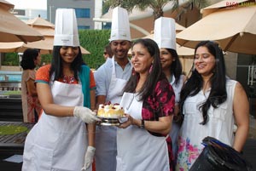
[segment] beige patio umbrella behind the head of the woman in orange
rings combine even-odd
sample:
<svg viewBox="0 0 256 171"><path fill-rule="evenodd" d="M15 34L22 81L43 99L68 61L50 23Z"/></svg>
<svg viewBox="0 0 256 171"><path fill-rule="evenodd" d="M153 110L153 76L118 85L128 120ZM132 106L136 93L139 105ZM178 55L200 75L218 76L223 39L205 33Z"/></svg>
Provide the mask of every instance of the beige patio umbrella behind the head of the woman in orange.
<svg viewBox="0 0 256 171"><path fill-rule="evenodd" d="M27 20L26 24L44 35L44 40L32 43L0 43L0 52L24 52L26 48L39 48L41 49L41 54L51 54L54 43L55 25L41 17ZM82 54L90 54L85 48L81 46L80 48Z"/></svg>

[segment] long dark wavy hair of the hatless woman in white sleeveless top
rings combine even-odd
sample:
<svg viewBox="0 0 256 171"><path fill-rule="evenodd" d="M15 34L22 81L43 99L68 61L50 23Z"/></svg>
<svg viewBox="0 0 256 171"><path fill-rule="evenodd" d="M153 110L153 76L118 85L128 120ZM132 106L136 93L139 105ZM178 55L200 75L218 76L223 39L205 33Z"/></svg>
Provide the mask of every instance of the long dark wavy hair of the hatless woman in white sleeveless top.
<svg viewBox="0 0 256 171"><path fill-rule="evenodd" d="M200 110L202 111L203 122L201 124L206 124L208 121L207 111L212 105L213 108L218 108L218 105L224 103L227 100L226 91L226 71L224 63L224 54L222 49L218 46L218 43L212 41L202 41L198 43L195 47L195 52L199 47L206 47L208 51L215 57L215 68L213 69L212 77L210 78L211 92L207 100L200 105ZM183 111L184 101L188 96L194 96L201 91L203 87L203 80L198 71L192 71L191 77L187 83L185 83L181 91L181 111Z"/></svg>

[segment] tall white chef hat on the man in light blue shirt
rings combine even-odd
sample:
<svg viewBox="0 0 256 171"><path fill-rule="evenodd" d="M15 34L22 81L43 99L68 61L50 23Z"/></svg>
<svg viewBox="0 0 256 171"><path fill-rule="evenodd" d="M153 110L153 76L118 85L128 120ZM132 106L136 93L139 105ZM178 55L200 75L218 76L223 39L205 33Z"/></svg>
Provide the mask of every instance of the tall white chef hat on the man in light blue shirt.
<svg viewBox="0 0 256 171"><path fill-rule="evenodd" d="M128 40L131 41L130 24L126 9L116 7L112 13L112 26L109 41Z"/></svg>

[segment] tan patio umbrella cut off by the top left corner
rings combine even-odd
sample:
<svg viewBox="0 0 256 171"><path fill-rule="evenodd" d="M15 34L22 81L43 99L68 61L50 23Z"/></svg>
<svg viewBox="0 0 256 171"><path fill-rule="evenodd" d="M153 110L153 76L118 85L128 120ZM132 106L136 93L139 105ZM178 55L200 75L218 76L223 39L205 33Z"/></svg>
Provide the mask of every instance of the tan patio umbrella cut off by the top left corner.
<svg viewBox="0 0 256 171"><path fill-rule="evenodd" d="M42 40L44 36L38 31L27 26L23 21L9 13L9 9L14 9L14 5L4 0L0 0L0 42L33 42Z"/></svg>

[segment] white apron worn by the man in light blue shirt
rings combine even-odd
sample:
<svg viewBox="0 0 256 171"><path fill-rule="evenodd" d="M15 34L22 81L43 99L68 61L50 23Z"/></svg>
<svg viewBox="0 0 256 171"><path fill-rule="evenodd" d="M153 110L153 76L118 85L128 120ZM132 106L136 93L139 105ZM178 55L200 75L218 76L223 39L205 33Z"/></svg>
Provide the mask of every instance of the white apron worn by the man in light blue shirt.
<svg viewBox="0 0 256 171"><path fill-rule="evenodd" d="M111 82L106 100L111 103L120 103L127 80L116 77L114 58L112 58L112 66ZM96 126L96 171L114 171L116 155L116 127Z"/></svg>

